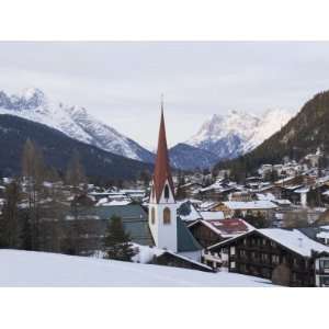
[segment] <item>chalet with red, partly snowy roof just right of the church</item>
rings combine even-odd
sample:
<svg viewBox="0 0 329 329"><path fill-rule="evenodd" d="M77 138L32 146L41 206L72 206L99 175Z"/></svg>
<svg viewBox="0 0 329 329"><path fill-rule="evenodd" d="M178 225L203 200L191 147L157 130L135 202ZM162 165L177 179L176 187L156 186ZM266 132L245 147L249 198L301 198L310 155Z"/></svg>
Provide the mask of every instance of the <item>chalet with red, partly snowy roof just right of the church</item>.
<svg viewBox="0 0 329 329"><path fill-rule="evenodd" d="M240 218L198 219L191 223L188 227L197 242L204 248L254 229L254 227Z"/></svg>

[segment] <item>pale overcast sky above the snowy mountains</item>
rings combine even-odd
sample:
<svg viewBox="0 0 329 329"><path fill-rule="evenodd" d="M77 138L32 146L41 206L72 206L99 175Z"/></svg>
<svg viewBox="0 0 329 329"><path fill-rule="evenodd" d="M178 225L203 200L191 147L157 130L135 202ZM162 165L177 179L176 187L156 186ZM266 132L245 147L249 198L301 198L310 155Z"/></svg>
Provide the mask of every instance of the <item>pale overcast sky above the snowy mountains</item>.
<svg viewBox="0 0 329 329"><path fill-rule="evenodd" d="M297 111L329 89L329 43L0 43L0 90L29 87L151 147L163 93L173 145L214 113Z"/></svg>

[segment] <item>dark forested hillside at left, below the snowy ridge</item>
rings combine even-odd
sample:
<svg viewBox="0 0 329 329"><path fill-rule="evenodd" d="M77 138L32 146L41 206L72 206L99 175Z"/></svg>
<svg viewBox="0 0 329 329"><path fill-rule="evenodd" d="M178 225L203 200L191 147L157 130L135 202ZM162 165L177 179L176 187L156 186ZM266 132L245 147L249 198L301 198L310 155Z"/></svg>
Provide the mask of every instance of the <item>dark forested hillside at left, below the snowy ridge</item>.
<svg viewBox="0 0 329 329"><path fill-rule="evenodd" d="M21 172L22 149L30 138L44 154L45 161L59 170L77 150L86 173L107 179L133 179L152 166L127 159L98 147L78 141L46 125L12 115L0 115L0 170L5 175Z"/></svg>

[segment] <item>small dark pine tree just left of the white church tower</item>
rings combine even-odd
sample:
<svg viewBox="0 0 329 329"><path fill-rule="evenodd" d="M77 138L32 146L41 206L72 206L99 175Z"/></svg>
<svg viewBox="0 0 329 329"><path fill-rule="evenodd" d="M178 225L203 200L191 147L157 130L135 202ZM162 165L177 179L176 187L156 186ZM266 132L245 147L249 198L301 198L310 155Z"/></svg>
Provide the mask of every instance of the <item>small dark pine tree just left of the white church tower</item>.
<svg viewBox="0 0 329 329"><path fill-rule="evenodd" d="M131 236L125 232L122 219L112 216L104 238L105 258L121 261L132 261L136 254L131 243Z"/></svg>

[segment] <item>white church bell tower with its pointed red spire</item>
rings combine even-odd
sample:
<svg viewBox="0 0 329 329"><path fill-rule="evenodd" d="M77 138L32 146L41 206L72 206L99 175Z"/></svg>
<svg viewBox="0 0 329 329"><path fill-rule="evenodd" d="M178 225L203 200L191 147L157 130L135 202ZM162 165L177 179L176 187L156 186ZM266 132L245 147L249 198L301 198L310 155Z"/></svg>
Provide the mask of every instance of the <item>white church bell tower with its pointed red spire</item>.
<svg viewBox="0 0 329 329"><path fill-rule="evenodd" d="M156 246L177 252L177 203L168 156L163 101L161 101L158 150L148 211L148 224Z"/></svg>

